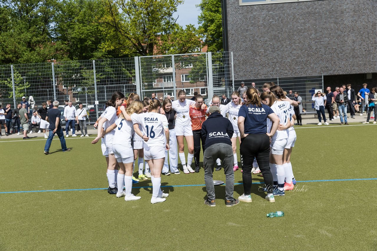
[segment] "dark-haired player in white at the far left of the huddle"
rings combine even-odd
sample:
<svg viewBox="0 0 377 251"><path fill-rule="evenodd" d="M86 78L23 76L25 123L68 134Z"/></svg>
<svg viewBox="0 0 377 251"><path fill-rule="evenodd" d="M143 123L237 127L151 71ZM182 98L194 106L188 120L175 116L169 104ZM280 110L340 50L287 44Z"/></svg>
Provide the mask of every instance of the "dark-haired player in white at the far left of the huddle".
<svg viewBox="0 0 377 251"><path fill-rule="evenodd" d="M116 120L116 108L120 106L124 101L124 95L120 91L113 93L111 99L107 102L107 108L104 113L101 115L101 119L98 121L98 132L97 137L92 141L92 144L97 143L102 135L102 125L104 124L104 131L115 123ZM107 192L110 194L116 194L118 189L115 187L115 176L116 176L116 159L112 149L114 131L111 131L104 135L104 142L106 146L107 153L109 154L109 165L107 167L107 180L109 181L109 188Z"/></svg>

